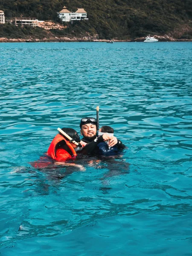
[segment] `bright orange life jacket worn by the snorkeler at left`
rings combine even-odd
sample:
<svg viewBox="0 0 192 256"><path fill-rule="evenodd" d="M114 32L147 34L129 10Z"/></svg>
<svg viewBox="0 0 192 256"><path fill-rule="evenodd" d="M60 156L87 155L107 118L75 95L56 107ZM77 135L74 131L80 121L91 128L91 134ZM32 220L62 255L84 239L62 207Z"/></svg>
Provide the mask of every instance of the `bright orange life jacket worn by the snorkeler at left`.
<svg viewBox="0 0 192 256"><path fill-rule="evenodd" d="M67 145L67 150L60 147L59 144L64 141ZM50 144L47 154L57 161L66 161L72 157L76 157L76 151L71 143L66 140L61 134L57 134Z"/></svg>

